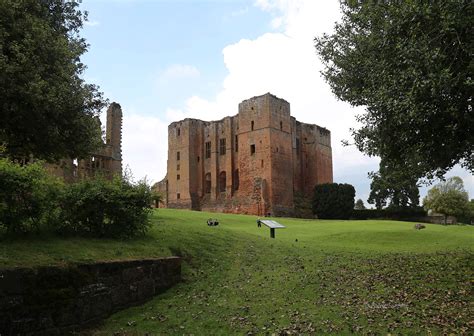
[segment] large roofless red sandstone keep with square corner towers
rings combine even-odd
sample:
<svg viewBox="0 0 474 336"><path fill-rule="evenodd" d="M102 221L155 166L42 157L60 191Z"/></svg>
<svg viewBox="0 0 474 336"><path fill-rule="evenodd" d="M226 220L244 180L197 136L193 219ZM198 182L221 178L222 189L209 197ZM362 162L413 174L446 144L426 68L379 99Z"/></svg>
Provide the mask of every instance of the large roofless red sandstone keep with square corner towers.
<svg viewBox="0 0 474 336"><path fill-rule="evenodd" d="M267 93L233 117L171 123L167 166L156 184L166 207L291 215L295 194L333 181L331 133L297 121L287 101Z"/></svg>

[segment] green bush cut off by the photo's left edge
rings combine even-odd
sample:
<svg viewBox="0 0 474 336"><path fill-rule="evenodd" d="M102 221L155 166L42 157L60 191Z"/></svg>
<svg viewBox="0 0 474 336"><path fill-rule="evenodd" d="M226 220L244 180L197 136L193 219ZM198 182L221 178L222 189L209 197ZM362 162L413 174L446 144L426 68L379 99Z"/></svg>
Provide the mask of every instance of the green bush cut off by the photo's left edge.
<svg viewBox="0 0 474 336"><path fill-rule="evenodd" d="M59 217L62 183L42 163L19 165L0 159L0 228L8 233L39 231Z"/></svg>

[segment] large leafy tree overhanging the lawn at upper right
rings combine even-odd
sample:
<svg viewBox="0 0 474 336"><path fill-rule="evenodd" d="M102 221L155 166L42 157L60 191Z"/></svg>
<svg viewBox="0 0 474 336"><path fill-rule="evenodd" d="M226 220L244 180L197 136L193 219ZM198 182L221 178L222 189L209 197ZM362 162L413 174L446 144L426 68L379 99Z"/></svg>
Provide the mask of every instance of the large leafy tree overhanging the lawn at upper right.
<svg viewBox="0 0 474 336"><path fill-rule="evenodd" d="M456 163L474 172L474 3L341 1L342 22L315 39L334 94L364 106L355 145L416 177Z"/></svg>

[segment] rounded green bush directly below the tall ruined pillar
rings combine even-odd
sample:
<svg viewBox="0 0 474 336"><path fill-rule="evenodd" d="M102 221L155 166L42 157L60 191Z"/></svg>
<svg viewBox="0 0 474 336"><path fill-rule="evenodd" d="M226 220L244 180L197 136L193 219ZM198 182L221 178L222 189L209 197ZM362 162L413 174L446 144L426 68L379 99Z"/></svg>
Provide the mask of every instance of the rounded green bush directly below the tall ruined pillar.
<svg viewBox="0 0 474 336"><path fill-rule="evenodd" d="M59 231L93 237L129 238L149 228L152 193L143 181L98 176L67 185Z"/></svg>

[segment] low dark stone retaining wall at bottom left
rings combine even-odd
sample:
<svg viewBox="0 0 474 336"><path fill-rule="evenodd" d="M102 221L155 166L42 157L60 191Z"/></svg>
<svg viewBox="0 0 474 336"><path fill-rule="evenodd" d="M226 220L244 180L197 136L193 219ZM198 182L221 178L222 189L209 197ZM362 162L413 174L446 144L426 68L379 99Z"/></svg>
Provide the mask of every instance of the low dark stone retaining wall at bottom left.
<svg viewBox="0 0 474 336"><path fill-rule="evenodd" d="M181 280L178 257L0 269L0 335L64 335Z"/></svg>

